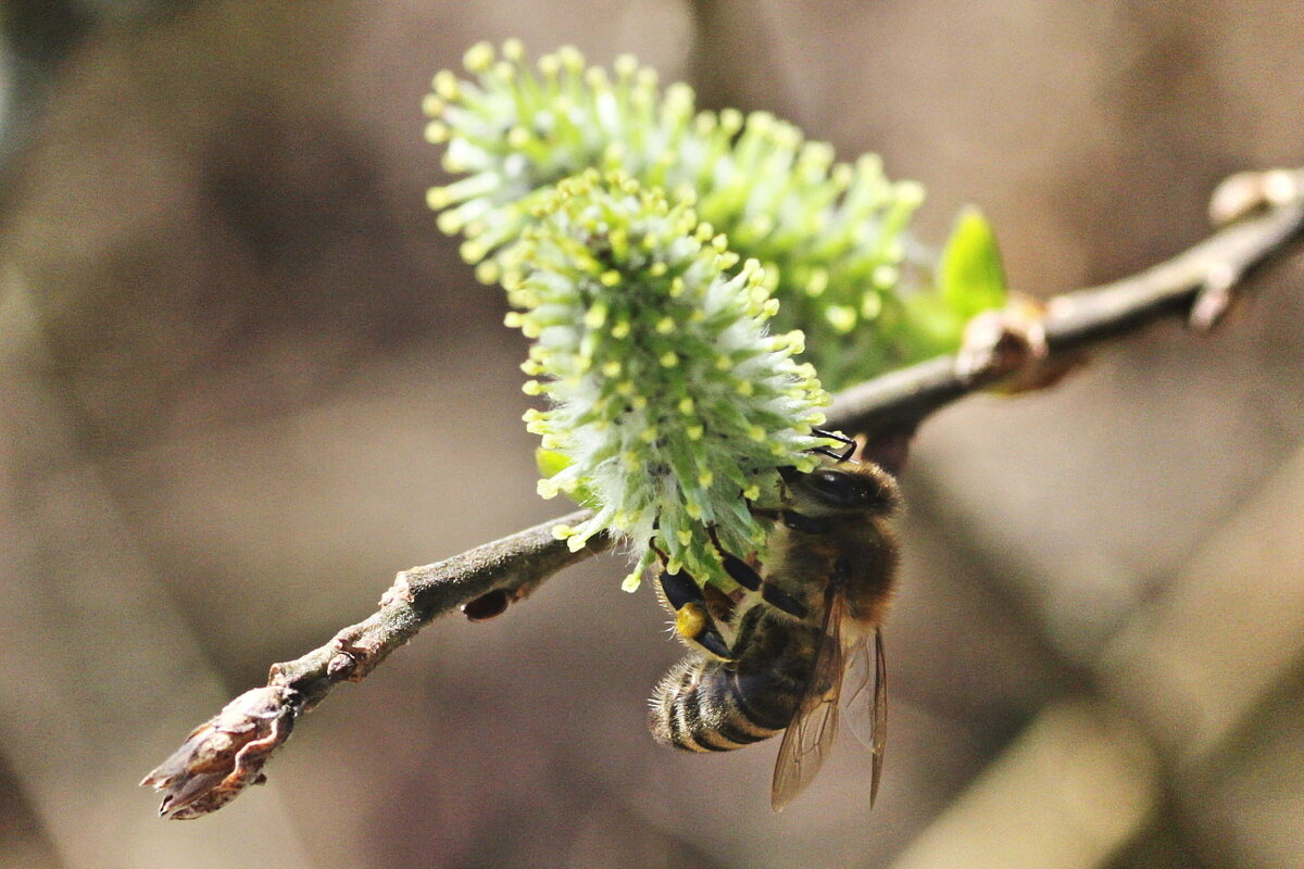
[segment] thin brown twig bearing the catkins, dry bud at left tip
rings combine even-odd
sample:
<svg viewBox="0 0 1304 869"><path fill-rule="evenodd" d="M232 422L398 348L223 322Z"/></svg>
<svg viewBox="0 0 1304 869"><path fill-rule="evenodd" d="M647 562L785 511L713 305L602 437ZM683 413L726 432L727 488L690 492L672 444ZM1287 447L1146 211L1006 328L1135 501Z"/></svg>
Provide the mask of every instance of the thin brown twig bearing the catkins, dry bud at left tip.
<svg viewBox="0 0 1304 869"><path fill-rule="evenodd" d="M1210 212L1228 225L1172 259L1103 287L979 315L956 356L845 390L833 399L829 426L868 435L868 455L898 470L919 422L956 399L987 388L1042 388L1080 363L1086 348L1167 317L1181 317L1196 331L1213 328L1245 279L1304 236L1304 171L1232 176L1215 192ZM585 517L579 511L400 572L376 614L301 658L273 664L266 687L228 704L145 778L142 784L164 795L160 814L201 817L261 783L262 766L300 714L335 685L364 679L437 616L462 607L471 619L492 618L557 571L605 550L605 538L571 552L554 537L558 524Z"/></svg>

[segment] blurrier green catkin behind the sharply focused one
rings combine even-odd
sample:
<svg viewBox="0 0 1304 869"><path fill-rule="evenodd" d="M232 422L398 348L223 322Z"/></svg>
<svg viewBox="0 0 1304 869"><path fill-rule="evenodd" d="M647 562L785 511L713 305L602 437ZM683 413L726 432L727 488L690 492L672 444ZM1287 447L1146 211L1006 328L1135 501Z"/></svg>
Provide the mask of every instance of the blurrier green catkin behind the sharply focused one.
<svg viewBox="0 0 1304 869"><path fill-rule="evenodd" d="M608 73L572 48L535 66L523 53L515 40L501 57L481 43L466 57L473 79L441 73L426 100L437 119L428 138L447 146L445 168L466 176L429 201L441 229L467 237L469 261L515 241L562 178L621 171L692 197L739 262L765 267L780 302L773 330L806 334L805 358L828 387L953 349L938 336L957 337L957 318L928 304L930 263L906 232L923 201L918 184L889 181L872 155L836 163L828 145L767 112L698 112L690 87L662 90L630 56ZM944 327L914 328L913 296Z"/></svg>

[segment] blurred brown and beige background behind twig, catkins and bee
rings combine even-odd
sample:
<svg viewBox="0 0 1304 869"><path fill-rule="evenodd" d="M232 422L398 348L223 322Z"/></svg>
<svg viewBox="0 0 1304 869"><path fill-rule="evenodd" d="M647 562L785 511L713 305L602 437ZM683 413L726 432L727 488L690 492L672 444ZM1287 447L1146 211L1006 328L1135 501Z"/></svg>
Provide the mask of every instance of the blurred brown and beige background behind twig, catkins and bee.
<svg viewBox="0 0 1304 869"><path fill-rule="evenodd" d="M965 202L1016 288L1141 270L1304 164L1297 0L3 7L0 866L1304 865L1304 261L1211 336L921 431L887 774L655 745L682 651L595 559L429 627L216 816L136 783L396 571L566 512L434 228L430 76L634 52Z"/></svg>

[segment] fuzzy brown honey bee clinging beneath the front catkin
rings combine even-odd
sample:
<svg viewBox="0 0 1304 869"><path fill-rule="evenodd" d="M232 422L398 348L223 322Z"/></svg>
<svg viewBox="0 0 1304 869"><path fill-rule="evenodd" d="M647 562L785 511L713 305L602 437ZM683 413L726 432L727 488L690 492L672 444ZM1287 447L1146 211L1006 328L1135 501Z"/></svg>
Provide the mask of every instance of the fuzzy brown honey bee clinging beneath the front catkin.
<svg viewBox="0 0 1304 869"><path fill-rule="evenodd" d="M772 521L765 563L720 550L729 576L758 594L734 602L682 571L661 572L660 597L692 654L657 685L652 735L686 750L722 752L785 731L771 787L780 812L828 756L850 672L848 720L874 753L872 805L887 737L880 625L897 565L888 519L900 492L885 470L848 455L810 473L785 472L784 482L780 508L756 511Z"/></svg>

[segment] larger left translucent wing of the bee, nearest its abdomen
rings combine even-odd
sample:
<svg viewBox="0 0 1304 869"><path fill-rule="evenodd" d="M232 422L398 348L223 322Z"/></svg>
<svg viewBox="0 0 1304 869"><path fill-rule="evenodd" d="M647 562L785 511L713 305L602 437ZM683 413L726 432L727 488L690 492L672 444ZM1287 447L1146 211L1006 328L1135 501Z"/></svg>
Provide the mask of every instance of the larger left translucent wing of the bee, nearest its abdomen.
<svg viewBox="0 0 1304 869"><path fill-rule="evenodd" d="M769 791L769 805L775 812L782 812L815 779L833 747L844 670L841 601L841 597L835 595L824 608L824 627L815 653L815 666L811 667L797 713L778 747L775 782Z"/></svg>

